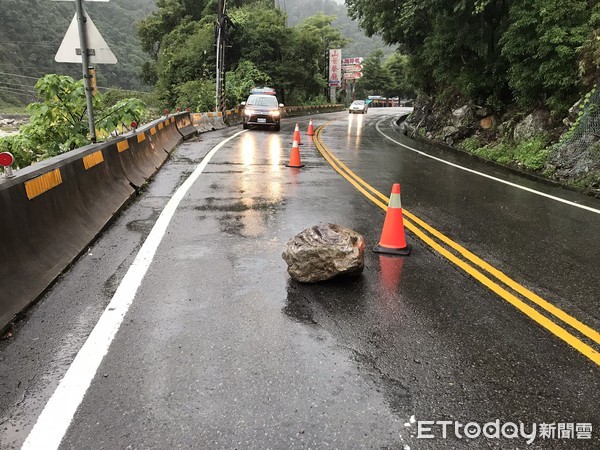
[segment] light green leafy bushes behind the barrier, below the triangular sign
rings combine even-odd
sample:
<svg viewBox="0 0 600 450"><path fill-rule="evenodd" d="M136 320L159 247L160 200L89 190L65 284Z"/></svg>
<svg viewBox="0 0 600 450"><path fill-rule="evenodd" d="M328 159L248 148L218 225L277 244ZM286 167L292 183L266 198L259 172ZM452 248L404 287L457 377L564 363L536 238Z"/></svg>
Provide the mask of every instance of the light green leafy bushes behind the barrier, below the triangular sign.
<svg viewBox="0 0 600 450"><path fill-rule="evenodd" d="M35 85L40 102L27 107L30 122L20 134L0 139L0 151L11 152L18 167L90 143L83 81L64 75L46 75ZM130 98L107 104L101 94L94 97L96 134L107 138L132 122L144 118L141 100Z"/></svg>

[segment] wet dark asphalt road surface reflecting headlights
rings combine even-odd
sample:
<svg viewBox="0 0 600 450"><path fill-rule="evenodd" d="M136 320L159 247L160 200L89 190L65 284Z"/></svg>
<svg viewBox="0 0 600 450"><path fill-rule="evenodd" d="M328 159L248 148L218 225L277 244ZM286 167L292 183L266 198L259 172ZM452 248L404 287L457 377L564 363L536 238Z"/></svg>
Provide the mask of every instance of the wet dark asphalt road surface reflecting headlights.
<svg viewBox="0 0 600 450"><path fill-rule="evenodd" d="M428 160L399 110L315 116L360 177L513 279L600 329L600 215ZM299 120L303 132L306 120ZM376 244L384 214L292 120L222 148L180 204L63 448L594 448L598 366L408 234L362 276L289 280L285 242L336 222ZM377 124L379 129L377 130ZM0 443L18 447L178 186L224 137L183 144L155 180L0 341ZM456 164L600 208L471 158ZM597 348L597 347L596 347ZM416 438L417 420L592 423L590 441Z"/></svg>

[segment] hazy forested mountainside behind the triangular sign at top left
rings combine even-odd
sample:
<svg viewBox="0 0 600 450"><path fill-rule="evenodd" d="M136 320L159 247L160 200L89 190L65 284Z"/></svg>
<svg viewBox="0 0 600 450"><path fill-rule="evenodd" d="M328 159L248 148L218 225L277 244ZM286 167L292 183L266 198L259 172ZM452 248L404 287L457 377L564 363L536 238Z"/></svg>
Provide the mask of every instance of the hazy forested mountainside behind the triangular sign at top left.
<svg viewBox="0 0 600 450"><path fill-rule="evenodd" d="M98 67L98 84L143 89L138 73L147 56L132 24L149 14L154 0L88 2L85 8L118 59ZM81 77L81 65L54 61L74 14L73 2L0 0L0 105L36 100L34 84L47 73Z"/></svg>

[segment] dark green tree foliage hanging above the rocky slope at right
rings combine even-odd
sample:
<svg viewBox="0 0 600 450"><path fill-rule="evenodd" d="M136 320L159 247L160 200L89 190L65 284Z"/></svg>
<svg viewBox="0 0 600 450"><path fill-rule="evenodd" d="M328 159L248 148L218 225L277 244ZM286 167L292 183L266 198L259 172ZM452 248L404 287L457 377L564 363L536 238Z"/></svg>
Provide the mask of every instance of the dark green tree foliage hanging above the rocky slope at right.
<svg viewBox="0 0 600 450"><path fill-rule="evenodd" d="M409 56L417 88L502 112L516 102L563 113L598 73L598 2L347 0L368 34ZM593 13L590 14L590 11ZM596 61L596 62L594 62Z"/></svg>

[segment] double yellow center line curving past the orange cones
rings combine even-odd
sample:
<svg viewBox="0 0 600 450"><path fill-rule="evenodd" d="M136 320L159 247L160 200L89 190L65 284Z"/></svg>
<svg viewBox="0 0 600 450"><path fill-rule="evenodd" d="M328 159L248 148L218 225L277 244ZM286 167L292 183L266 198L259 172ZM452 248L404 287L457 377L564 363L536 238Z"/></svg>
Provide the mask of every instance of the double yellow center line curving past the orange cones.
<svg viewBox="0 0 600 450"><path fill-rule="evenodd" d="M330 122L319 127L314 136L314 142L323 157L327 162L343 176L350 184L352 184L365 197L375 203L384 211L387 211L389 198L368 184L352 170L350 170L342 161L340 161L321 140L323 129ZM546 328L555 336L559 337L571 347L581 352L583 355L591 359L596 364L600 365L600 353L596 351L592 345L600 344L600 333L596 330L583 324L576 318L570 316L552 303L544 300L539 295L531 292L526 287L517 283L515 280L508 277L506 274L483 261L477 255L473 254L460 244L454 242L448 236L433 228L423 220L419 219L414 214L411 214L406 209L404 212L404 225L415 236L421 239L425 244L437 251L444 258L455 264L460 269L464 270L470 276L475 278L486 288L498 294L501 298L513 305L519 311L526 314L528 317L536 321L538 324ZM445 246L444 246L445 245ZM454 250L455 253L449 250ZM511 289L510 292L507 288ZM552 319L541 314L537 309L531 306L516 294L521 295L526 301L535 304L537 307L551 315ZM583 339L589 339L593 342L592 345L583 342L576 337L571 331L564 328L564 324L568 325L575 332L584 336Z"/></svg>

